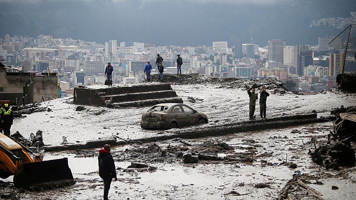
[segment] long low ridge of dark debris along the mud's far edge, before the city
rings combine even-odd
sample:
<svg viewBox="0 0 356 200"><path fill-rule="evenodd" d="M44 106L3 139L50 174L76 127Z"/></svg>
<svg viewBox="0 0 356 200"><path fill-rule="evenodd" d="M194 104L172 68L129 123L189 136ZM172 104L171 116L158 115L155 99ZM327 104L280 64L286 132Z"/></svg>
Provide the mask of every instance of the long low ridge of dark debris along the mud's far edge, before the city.
<svg viewBox="0 0 356 200"><path fill-rule="evenodd" d="M151 75L151 80L159 81L157 74ZM249 88L255 87L260 88L263 85L272 93L286 93L288 90L283 87L283 82L275 78L267 78L264 80L244 80L236 77L215 77L208 76L198 73L188 73L188 74L164 74L164 82L169 82L171 84L214 84L218 87L225 88Z"/></svg>

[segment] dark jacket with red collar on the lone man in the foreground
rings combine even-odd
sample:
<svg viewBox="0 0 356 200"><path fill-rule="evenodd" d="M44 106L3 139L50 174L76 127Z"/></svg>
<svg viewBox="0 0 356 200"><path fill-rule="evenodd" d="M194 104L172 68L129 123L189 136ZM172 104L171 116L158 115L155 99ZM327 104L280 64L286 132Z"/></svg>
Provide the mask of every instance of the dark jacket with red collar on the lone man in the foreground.
<svg viewBox="0 0 356 200"><path fill-rule="evenodd" d="M110 152L107 152L103 148L100 149L97 159L99 162L99 176L102 179L116 177L115 164Z"/></svg>

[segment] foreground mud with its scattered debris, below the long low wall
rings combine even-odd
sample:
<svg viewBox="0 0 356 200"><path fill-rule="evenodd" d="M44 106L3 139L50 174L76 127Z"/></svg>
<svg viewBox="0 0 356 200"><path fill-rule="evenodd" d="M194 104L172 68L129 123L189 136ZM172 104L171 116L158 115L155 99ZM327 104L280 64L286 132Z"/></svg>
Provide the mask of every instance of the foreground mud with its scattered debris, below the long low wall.
<svg viewBox="0 0 356 200"><path fill-rule="evenodd" d="M283 187L298 175L307 185L330 178L329 171L312 162L309 149L326 141L330 122L284 129L240 132L198 139L171 139L154 143L133 143L114 147L118 181L111 183L111 199L276 199ZM73 150L46 154L45 159L68 157L75 185L45 191L13 188L11 180L0 184L8 199L101 199L103 184L97 171L97 150ZM198 161L184 163L182 154L197 155ZM200 155L200 157L199 157ZM149 167L127 168L131 162ZM339 176L347 176L344 173ZM335 182L334 182L335 183ZM352 182L336 182L332 190L343 199L353 199ZM328 185L328 184L327 184ZM327 185L316 189L323 199ZM354 188L354 187L353 187ZM290 189L290 188L289 188ZM331 188L329 188L331 190ZM289 195L297 199L316 199L293 185Z"/></svg>

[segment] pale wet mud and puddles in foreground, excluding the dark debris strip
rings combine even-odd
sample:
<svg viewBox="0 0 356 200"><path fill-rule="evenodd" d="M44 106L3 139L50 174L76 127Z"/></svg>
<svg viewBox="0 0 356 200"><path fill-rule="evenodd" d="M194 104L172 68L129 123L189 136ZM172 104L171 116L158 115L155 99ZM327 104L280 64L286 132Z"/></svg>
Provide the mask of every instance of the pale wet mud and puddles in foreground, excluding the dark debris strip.
<svg viewBox="0 0 356 200"><path fill-rule="evenodd" d="M217 140L234 146L235 153L255 151L252 163L199 161L195 164L157 162L153 172L126 169L130 159L115 162L118 181L111 183L111 199L275 199L280 189L296 170L305 174L319 174L322 168L315 165L307 151L326 140L331 123L316 123L284 129L242 132L220 137L186 140L201 143ZM293 130L293 131L292 131ZM250 143L253 139L255 143ZM161 147L174 141L160 141ZM138 145L138 144L135 144ZM114 147L112 153L125 152L134 145ZM97 149L92 149L96 152ZM267 154L266 154L267 152ZM270 153L268 155L268 153ZM95 153L94 153L95 154ZM228 154L228 153L222 153ZM75 185L46 191L24 192L20 199L101 199L102 181L98 176L97 158L75 157L70 152L50 153L45 159L68 157L68 164L77 181ZM115 158L115 157L114 157ZM297 164L291 169L280 164L287 159ZM135 159L139 161L139 158ZM271 163L268 165L266 163ZM257 188L263 183L267 187ZM337 192L337 191L336 191ZM240 194L240 195L236 195ZM347 199L347 198L345 198Z"/></svg>

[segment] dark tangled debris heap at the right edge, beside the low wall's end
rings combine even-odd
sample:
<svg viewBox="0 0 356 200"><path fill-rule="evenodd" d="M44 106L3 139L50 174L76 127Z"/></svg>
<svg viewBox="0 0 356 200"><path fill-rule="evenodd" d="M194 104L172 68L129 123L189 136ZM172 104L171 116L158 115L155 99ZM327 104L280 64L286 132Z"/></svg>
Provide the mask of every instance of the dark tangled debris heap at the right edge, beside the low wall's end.
<svg viewBox="0 0 356 200"><path fill-rule="evenodd" d="M334 109L332 114L337 116L333 124L333 131L328 134L327 142L313 152L309 152L313 161L325 168L337 169L339 166L354 166L355 152L351 142L356 141L356 108Z"/></svg>

